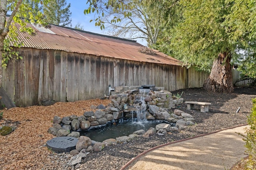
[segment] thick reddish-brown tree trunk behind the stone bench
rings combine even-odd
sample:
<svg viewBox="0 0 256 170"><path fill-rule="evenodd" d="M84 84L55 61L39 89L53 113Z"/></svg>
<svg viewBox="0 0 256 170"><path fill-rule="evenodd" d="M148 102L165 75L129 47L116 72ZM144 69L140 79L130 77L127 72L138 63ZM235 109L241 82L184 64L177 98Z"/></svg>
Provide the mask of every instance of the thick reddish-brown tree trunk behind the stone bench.
<svg viewBox="0 0 256 170"><path fill-rule="evenodd" d="M220 53L213 62L211 73L204 81L204 89L211 92L230 93L234 91L229 52Z"/></svg>

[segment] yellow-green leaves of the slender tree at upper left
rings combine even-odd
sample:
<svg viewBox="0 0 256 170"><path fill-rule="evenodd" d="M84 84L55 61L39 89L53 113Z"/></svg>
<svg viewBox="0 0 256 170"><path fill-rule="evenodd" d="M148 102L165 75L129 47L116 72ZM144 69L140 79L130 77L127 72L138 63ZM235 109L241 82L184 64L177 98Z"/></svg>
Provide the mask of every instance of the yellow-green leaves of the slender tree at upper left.
<svg viewBox="0 0 256 170"><path fill-rule="evenodd" d="M6 68L8 65L9 60L15 61L17 59L22 59L22 56L19 56L18 51L13 51L13 47L18 47L20 48L23 43L21 40L18 40L17 38L17 31L20 32L28 32L28 34L32 35L34 34L34 30L30 27L27 27L27 23L32 23L32 24L39 24L45 26L46 23L44 22L43 19L43 14L40 11L37 11L35 13L35 10L32 9L32 6L27 4L29 2L28 0L26 2L22 1L21 4L18 4L17 0L14 1L7 1L7 10L12 12L12 14L15 15L13 18L11 16L8 18L8 20L12 20L13 22L6 22L6 23L1 23L2 26L5 27L5 30L1 30L0 33L8 30L8 35L4 39L3 47L2 48L2 67ZM34 6L36 4L41 3L41 4L46 4L48 0L33 0L30 1L31 3L34 3ZM18 11L16 11L16 8L18 8ZM22 19L23 18L23 19ZM15 26L15 23L18 23L20 25L19 28ZM10 24L10 25L8 25ZM4 35L3 35L4 36Z"/></svg>

